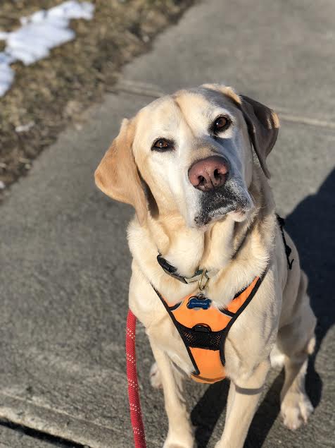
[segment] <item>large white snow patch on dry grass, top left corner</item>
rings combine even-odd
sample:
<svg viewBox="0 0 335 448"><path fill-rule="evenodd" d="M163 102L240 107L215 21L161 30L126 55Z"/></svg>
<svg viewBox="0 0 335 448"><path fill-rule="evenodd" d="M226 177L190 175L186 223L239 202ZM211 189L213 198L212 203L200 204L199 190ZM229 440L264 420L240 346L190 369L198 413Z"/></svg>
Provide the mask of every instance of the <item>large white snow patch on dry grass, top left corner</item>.
<svg viewBox="0 0 335 448"><path fill-rule="evenodd" d="M18 30L0 32L0 40L6 40L6 48L0 52L0 97L13 83L11 63L21 61L28 66L49 56L52 48L75 38L75 32L69 28L71 19L91 20L93 14L94 5L88 1L69 0L21 18Z"/></svg>

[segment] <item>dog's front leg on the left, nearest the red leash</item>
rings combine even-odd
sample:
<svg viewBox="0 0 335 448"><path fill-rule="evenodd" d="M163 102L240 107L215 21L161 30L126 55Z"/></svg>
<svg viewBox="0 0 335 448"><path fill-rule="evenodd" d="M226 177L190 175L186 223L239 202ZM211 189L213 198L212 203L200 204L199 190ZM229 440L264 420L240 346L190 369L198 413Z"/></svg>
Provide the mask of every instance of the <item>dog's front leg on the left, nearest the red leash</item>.
<svg viewBox="0 0 335 448"><path fill-rule="evenodd" d="M173 367L166 353L160 350L152 339L150 339L150 344L160 372L165 411L169 422L169 431L163 448L192 448L194 437L182 396L182 377Z"/></svg>

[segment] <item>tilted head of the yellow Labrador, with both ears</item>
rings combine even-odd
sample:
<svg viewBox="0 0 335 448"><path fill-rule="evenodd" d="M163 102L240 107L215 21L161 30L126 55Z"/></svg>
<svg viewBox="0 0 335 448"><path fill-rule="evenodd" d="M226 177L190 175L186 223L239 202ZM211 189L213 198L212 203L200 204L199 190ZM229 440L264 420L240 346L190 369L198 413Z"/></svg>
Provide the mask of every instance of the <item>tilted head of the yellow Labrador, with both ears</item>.
<svg viewBox="0 0 335 448"><path fill-rule="evenodd" d="M134 206L140 224L148 210L179 212L202 227L253 208L248 192L253 152L269 177L266 157L279 120L271 109L230 87L202 85L157 99L131 120L96 169L96 185Z"/></svg>

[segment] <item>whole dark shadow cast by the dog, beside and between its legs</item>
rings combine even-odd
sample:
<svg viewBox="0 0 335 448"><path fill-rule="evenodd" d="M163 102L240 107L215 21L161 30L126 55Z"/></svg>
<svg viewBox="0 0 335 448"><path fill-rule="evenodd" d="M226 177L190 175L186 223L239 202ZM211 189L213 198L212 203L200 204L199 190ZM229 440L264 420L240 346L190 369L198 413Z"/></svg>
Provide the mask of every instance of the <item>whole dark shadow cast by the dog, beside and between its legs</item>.
<svg viewBox="0 0 335 448"><path fill-rule="evenodd" d="M322 380L317 374L315 356L322 339L334 324L335 303L331 279L335 272L335 169L326 178L320 190L298 204L286 217L286 229L296 243L301 265L309 278L308 292L312 308L317 316L317 346L310 358L306 387L313 406L317 406L322 395ZM279 394L284 380L280 373L268 390L253 418L245 447L262 447L274 420L279 414ZM196 426L196 442L205 448L215 428L217 420L226 406L228 383L221 382L206 389L191 412L192 423Z"/></svg>

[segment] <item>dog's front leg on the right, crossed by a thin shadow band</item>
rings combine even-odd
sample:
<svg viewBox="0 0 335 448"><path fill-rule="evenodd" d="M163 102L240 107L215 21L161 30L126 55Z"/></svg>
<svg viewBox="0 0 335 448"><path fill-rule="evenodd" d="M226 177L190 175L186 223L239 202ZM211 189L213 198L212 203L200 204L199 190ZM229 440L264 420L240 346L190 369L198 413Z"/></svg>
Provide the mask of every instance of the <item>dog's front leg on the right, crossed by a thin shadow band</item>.
<svg viewBox="0 0 335 448"><path fill-rule="evenodd" d="M215 448L243 447L269 368L270 361L264 361L251 377L230 382L225 430Z"/></svg>

